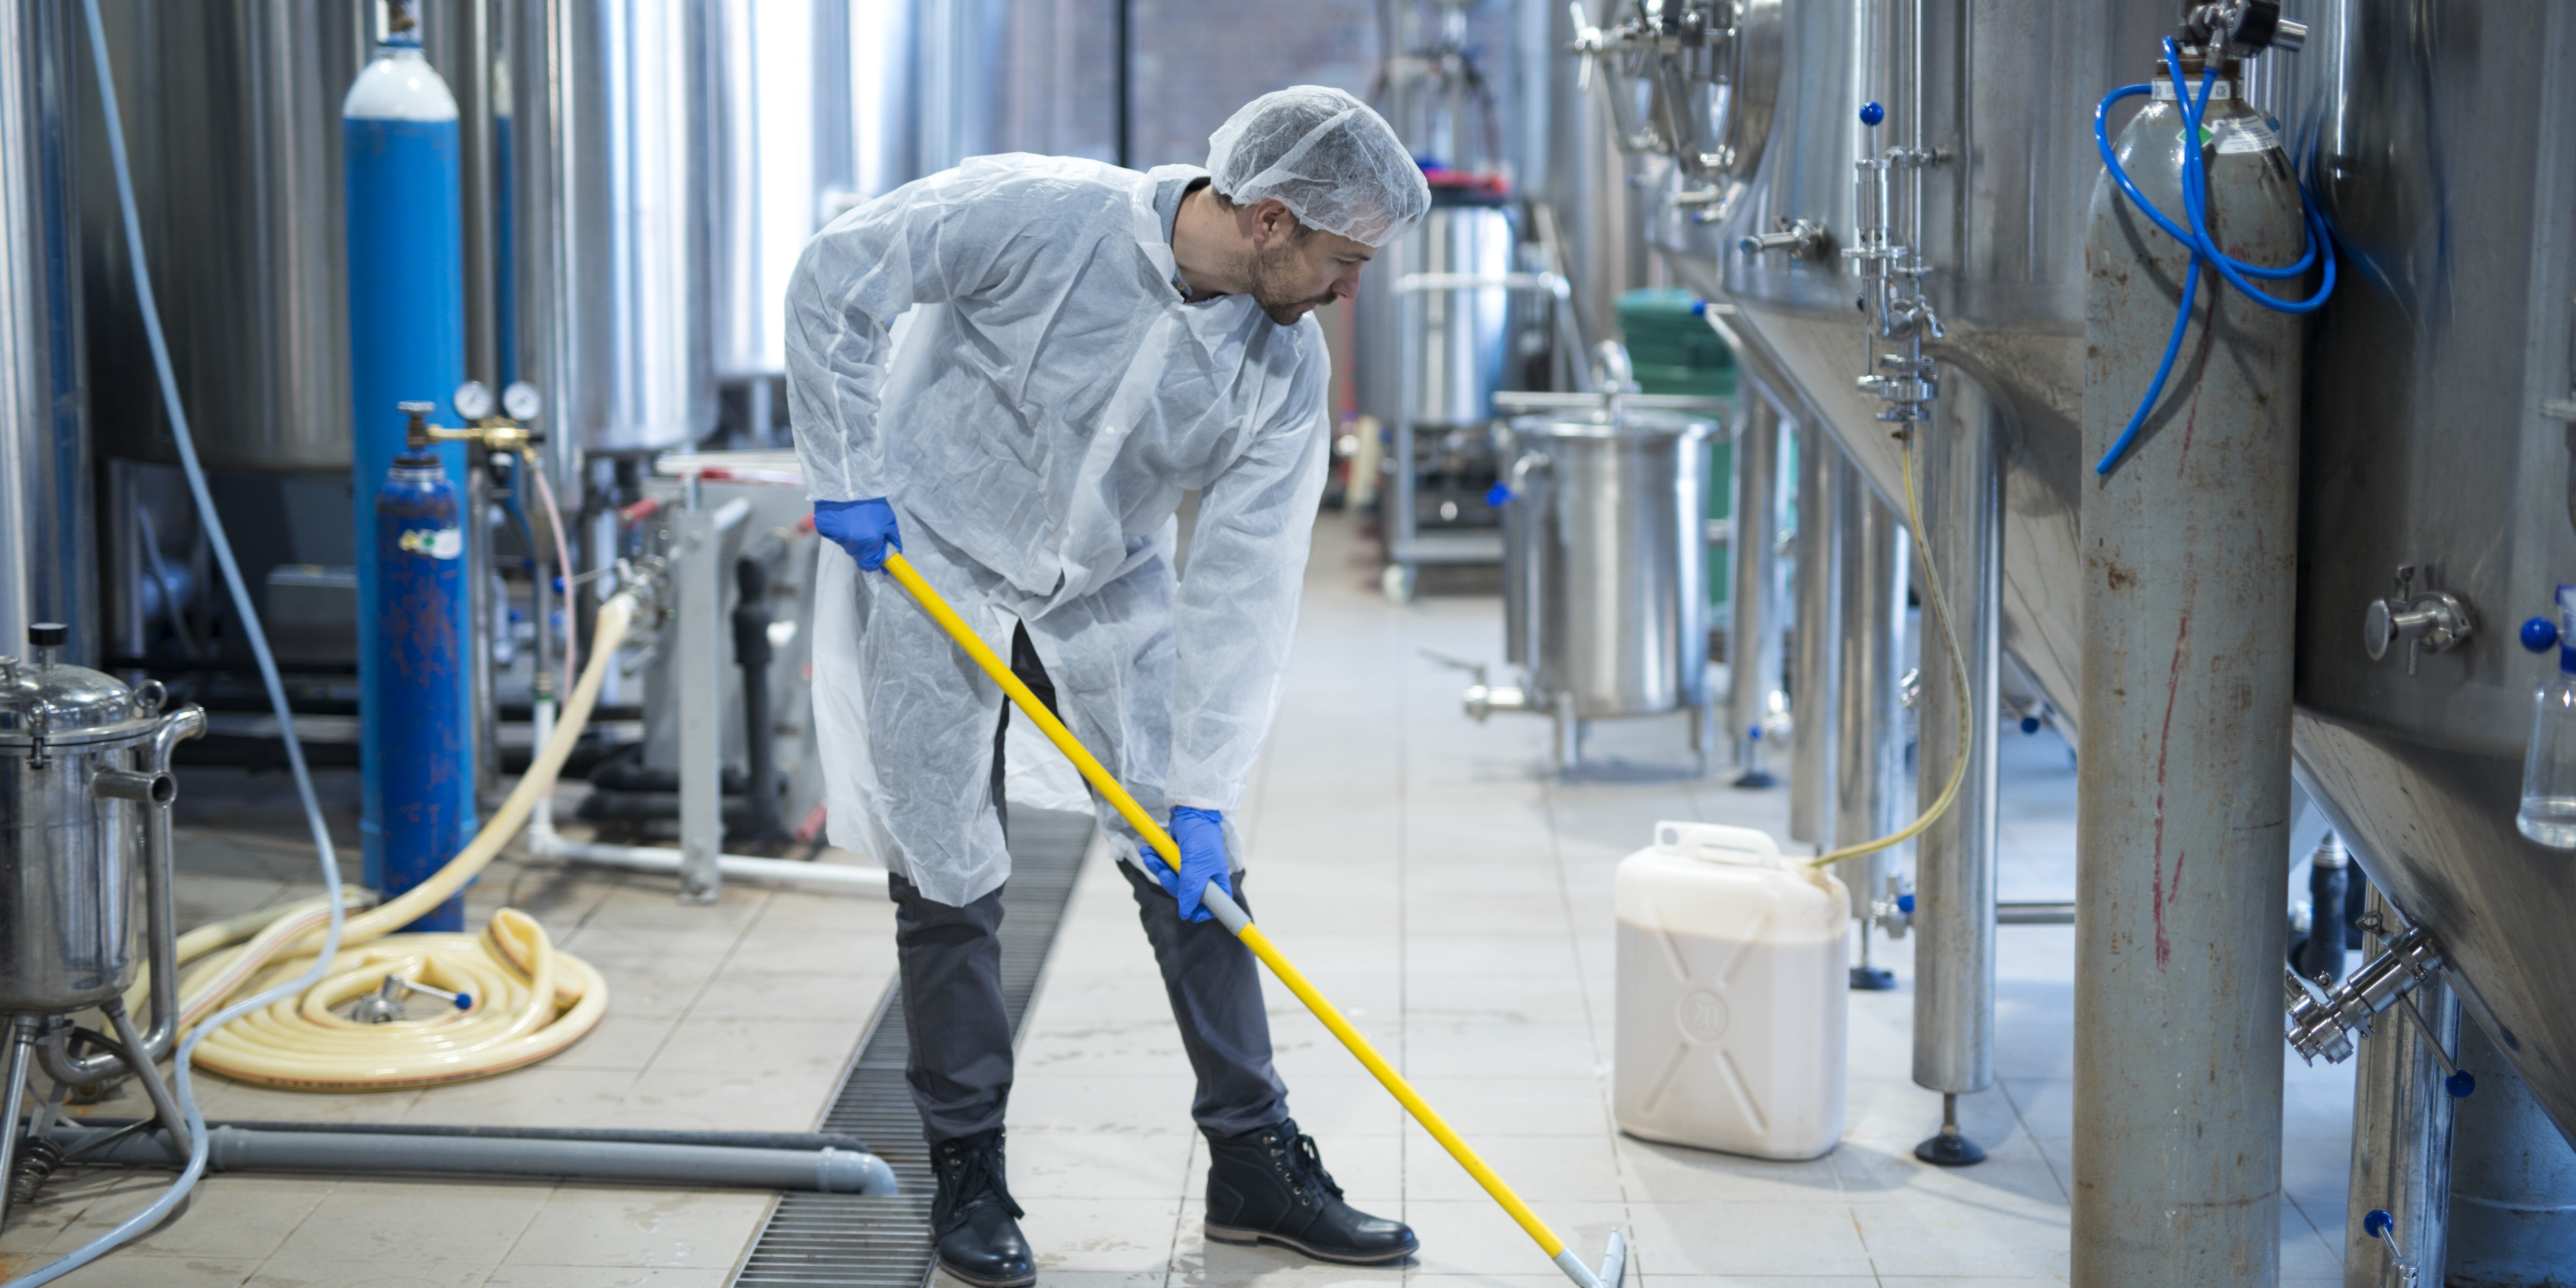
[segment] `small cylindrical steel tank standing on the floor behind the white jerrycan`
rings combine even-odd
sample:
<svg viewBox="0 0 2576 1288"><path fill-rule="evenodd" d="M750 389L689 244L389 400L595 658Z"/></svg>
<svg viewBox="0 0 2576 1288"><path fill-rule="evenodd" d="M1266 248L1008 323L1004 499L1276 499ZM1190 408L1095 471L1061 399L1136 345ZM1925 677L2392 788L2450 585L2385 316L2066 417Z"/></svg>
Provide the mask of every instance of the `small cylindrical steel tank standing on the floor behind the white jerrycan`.
<svg viewBox="0 0 2576 1288"><path fill-rule="evenodd" d="M1558 760L1582 724L1692 714L1708 739L1703 598L1708 451L1703 417L1613 407L1533 415L1504 435L1504 621L1520 706L1558 719Z"/></svg>

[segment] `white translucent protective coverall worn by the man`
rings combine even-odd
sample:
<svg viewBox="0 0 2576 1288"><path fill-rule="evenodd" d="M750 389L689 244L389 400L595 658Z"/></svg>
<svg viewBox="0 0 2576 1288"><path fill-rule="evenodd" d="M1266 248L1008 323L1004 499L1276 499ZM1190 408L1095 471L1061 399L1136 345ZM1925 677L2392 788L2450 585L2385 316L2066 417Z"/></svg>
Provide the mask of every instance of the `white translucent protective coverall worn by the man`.
<svg viewBox="0 0 2576 1288"><path fill-rule="evenodd" d="M997 654L1023 623L1066 726L1139 804L1234 814L1296 629L1329 368L1314 317L1182 304L1154 185L1198 173L976 157L842 214L788 289L788 410L814 500L886 497L904 556ZM1203 497L1175 585L1182 489ZM822 544L832 845L943 904L997 889L1002 701L899 585Z"/></svg>

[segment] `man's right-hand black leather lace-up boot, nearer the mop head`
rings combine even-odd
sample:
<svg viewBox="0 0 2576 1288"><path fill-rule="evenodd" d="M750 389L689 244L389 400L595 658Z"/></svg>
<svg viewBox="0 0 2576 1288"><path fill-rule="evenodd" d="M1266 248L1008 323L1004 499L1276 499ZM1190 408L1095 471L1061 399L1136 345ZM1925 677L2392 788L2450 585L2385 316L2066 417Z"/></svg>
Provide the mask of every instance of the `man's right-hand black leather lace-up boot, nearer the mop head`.
<svg viewBox="0 0 2576 1288"><path fill-rule="evenodd" d="M1422 1247L1401 1221L1342 1203L1342 1188L1296 1118L1208 1136L1208 1239L1280 1244L1342 1265L1399 1262Z"/></svg>

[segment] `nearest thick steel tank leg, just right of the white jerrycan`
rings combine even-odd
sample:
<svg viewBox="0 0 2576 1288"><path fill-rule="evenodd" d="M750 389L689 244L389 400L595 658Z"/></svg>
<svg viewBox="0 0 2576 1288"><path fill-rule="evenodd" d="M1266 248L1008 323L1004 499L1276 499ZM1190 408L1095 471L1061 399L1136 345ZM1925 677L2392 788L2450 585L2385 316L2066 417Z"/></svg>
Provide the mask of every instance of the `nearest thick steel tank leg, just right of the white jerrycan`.
<svg viewBox="0 0 2576 1288"><path fill-rule="evenodd" d="M1958 680L1940 631L1924 631L1914 703L1917 799L1940 796L1968 719L1968 778L1958 801L1914 840L1914 1084L1955 1100L1994 1084L1994 801L2004 592L2004 422L1973 381L1955 381L1947 420L1917 438L1922 544L1942 577L1950 629L1968 662ZM1963 706L1965 703L1965 706ZM2069 909L2069 920L2074 909ZM1955 1103L1950 1105L1955 1110ZM1947 1118L1955 1118L1947 1115ZM1986 1157L1945 1126L1914 1146L1945 1167Z"/></svg>

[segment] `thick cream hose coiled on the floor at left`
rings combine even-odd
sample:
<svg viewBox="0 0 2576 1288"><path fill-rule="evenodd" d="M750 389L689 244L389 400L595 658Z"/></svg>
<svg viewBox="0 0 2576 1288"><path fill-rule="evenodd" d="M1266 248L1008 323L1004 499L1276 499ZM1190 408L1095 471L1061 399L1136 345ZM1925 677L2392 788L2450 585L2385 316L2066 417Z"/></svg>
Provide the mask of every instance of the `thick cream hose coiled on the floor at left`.
<svg viewBox="0 0 2576 1288"><path fill-rule="evenodd" d="M528 814L554 791L564 760L572 757L600 683L616 665L618 644L634 626L636 592L626 590L600 605L590 641L590 665L564 701L554 737L538 750L528 773L482 832L428 881L355 912L340 935L340 953L322 981L301 997L255 1010L196 1046L196 1066L216 1074L317 1092L366 1092L389 1087L430 1087L505 1074L536 1064L590 1033L608 1010L608 984L582 958L559 953L546 930L518 909L500 909L482 935L435 933L397 935L451 894L466 886L526 827ZM283 909L229 917L196 927L178 940L180 1030L196 1028L229 997L260 992L312 969L325 899ZM466 1010L425 1020L361 1023L335 1007L361 992L374 992L386 974L469 994ZM147 981L137 981L142 992Z"/></svg>

